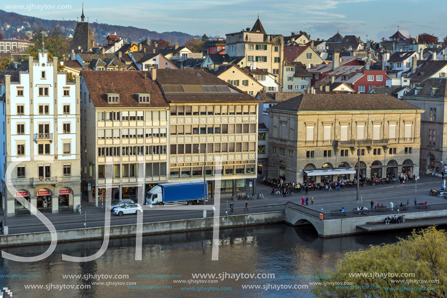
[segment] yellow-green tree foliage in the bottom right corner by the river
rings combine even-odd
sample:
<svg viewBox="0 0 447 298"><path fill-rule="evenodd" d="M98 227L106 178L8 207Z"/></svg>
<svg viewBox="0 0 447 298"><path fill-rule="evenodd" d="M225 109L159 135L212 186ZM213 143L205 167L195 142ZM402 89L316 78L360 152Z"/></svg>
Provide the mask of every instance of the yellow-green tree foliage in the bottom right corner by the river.
<svg viewBox="0 0 447 298"><path fill-rule="evenodd" d="M342 288L322 284L315 286L312 294L319 298L441 298L447 295L446 272L447 233L429 227L421 232L413 231L407 239L399 239L394 244L371 245L368 249L347 253L337 262L334 269L325 273L317 272L317 275L331 277L320 278L318 281L341 284L352 282L353 286ZM414 276L391 277L390 273L414 273ZM437 279L439 282L423 281L416 284L409 282L408 279L426 281ZM423 289L410 291L402 287ZM431 287L434 290L427 289Z"/></svg>

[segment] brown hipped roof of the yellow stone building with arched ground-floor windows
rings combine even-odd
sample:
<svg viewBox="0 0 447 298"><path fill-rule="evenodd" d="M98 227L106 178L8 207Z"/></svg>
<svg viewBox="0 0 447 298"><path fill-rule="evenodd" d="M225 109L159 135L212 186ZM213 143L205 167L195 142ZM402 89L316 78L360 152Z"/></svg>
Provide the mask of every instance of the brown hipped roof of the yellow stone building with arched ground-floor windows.
<svg viewBox="0 0 447 298"><path fill-rule="evenodd" d="M318 111L389 111L419 108L384 94L303 94L271 107L273 110Z"/></svg>

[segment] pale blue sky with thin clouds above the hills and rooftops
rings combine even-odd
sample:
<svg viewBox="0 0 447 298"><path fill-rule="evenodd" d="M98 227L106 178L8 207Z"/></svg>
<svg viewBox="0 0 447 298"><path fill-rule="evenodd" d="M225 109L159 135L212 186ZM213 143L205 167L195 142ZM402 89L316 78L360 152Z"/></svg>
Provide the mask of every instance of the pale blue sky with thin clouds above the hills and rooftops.
<svg viewBox="0 0 447 298"><path fill-rule="evenodd" d="M0 9L51 20L76 20L82 8L82 0L7 2L25 6L1 4ZM259 14L268 34L288 36L302 30L315 40L328 39L339 30L343 36L379 41L398 26L407 37L429 33L442 40L447 35L446 10L447 0L84 0L90 22L225 37L251 28Z"/></svg>

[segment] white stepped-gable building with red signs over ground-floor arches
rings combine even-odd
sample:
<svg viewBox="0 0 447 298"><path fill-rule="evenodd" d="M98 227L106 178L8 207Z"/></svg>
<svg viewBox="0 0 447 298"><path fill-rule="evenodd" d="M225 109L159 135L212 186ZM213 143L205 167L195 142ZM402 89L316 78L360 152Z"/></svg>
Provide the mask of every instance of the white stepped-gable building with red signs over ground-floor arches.
<svg viewBox="0 0 447 298"><path fill-rule="evenodd" d="M80 204L79 77L67 82L58 59L29 57L17 81L5 76L8 216L28 213L15 197L40 211L76 211Z"/></svg>

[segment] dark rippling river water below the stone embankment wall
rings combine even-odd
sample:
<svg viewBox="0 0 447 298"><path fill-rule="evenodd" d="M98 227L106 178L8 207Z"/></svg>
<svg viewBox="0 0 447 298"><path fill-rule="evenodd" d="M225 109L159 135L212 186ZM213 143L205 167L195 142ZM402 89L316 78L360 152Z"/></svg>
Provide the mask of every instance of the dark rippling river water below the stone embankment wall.
<svg viewBox="0 0 447 298"><path fill-rule="evenodd" d="M315 230L308 226L294 228L271 224L223 229L220 230L218 261L211 260L212 231L144 236L140 261L135 260L135 237L111 239L107 251L100 258L82 263L63 261L61 254L78 257L93 255L102 240L60 243L55 252L42 261L24 263L0 258L0 285L11 290L13 297L312 297L310 287L285 287L302 287L315 279L292 276L314 275L317 269L332 268L337 259L348 251L367 248L369 244L392 243L397 241L397 237L406 237L409 233L388 232L323 239L318 238ZM4 250L31 257L47 248L47 245L34 245ZM215 279L193 278L192 274L196 273L222 274L225 279L215 278L218 282L202 283L202 280ZM235 280L237 277L231 275L240 273L274 274L275 277L239 277ZM10 275L8 278L2 276L7 274ZM11 275L40 277L13 278ZM63 275L80 276L64 278ZM128 275L128 278L104 275ZM109 285L94 282L109 282ZM113 285L112 282L136 284ZM29 285L42 286L43 289L25 289ZM261 288L244 289L245 285ZM65 288L60 290L61 286ZM67 289L68 286L78 289ZM147 288L136 289L135 286ZM278 287L282 288L276 290Z"/></svg>

